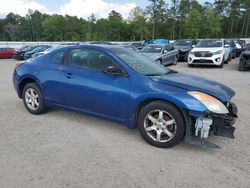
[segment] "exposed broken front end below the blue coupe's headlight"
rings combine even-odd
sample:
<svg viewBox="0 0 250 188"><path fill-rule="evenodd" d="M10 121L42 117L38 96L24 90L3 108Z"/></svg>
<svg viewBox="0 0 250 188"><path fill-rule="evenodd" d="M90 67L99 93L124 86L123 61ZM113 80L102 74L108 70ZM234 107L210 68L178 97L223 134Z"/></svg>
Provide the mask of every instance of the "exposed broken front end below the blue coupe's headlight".
<svg viewBox="0 0 250 188"><path fill-rule="evenodd" d="M234 138L233 127L238 113L237 106L230 102L227 104L228 114L205 113L202 115L191 114L193 118L186 117L185 142L191 145L209 148L219 148L216 144L208 142L210 134Z"/></svg>

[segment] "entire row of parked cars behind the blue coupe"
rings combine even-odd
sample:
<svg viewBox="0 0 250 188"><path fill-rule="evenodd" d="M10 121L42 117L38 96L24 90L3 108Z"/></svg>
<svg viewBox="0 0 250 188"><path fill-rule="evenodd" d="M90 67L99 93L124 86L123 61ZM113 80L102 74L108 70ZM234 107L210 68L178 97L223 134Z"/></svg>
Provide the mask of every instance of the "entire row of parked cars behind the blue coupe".
<svg viewBox="0 0 250 188"><path fill-rule="evenodd" d="M153 44L139 45L137 42L114 44L111 42L85 42L87 45L119 45L125 48L130 48L134 51L138 51L142 55L154 60L157 64L163 66L176 65L178 60L184 60L188 62L189 67L194 65L216 65L223 68L224 64L227 64L231 59L234 59L243 51L248 49L248 45L244 40L235 39L182 39L176 40L172 44L169 44L168 40L154 40ZM29 58L35 58L44 54L47 54L54 49L69 46L79 45L77 44L62 44L58 46L49 45L26 45L15 51L12 48L0 48L0 58L12 58L17 60L27 60ZM241 56L243 59L247 53ZM245 66L240 64L241 68Z"/></svg>

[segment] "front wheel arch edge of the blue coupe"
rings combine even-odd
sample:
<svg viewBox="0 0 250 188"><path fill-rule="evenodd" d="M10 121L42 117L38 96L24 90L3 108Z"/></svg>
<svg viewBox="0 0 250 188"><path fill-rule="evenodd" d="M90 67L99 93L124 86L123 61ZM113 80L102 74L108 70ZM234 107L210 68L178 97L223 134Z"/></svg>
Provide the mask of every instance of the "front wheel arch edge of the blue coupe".
<svg viewBox="0 0 250 188"><path fill-rule="evenodd" d="M147 99L147 100L144 100L142 101L138 106L137 106L137 109L136 109L136 112L135 112L135 116L134 116L134 125L135 127L137 126L137 121L138 121L138 116L139 116L139 112L140 110L146 106L147 104L151 103L151 102L154 102L154 101L163 101L163 102L167 102L167 103L170 103L172 104L173 106L175 106L179 111L180 113L182 114L184 120L185 120L185 114L184 114L184 110L181 109L179 106L177 106L176 104L168 101L168 100L164 100L164 99L158 99L158 98L153 98L153 99Z"/></svg>

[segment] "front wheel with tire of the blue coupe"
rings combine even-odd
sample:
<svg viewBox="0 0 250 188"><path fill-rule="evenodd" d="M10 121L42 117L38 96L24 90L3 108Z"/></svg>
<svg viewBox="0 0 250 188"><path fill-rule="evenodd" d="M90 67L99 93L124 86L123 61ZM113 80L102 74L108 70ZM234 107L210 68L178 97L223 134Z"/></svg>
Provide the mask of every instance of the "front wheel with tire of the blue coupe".
<svg viewBox="0 0 250 188"><path fill-rule="evenodd" d="M138 118L141 136L151 145L169 148L184 137L185 123L178 108L164 101L154 101L144 106Z"/></svg>

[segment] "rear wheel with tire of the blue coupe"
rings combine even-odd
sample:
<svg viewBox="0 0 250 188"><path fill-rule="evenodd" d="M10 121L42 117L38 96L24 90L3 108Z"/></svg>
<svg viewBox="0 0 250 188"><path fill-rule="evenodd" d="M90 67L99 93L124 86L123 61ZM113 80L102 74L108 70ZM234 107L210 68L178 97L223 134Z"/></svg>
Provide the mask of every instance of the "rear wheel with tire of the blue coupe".
<svg viewBox="0 0 250 188"><path fill-rule="evenodd" d="M38 115L44 111L44 100L41 90L36 83L29 83L24 86L22 98L24 106L30 113Z"/></svg>

